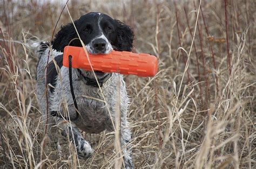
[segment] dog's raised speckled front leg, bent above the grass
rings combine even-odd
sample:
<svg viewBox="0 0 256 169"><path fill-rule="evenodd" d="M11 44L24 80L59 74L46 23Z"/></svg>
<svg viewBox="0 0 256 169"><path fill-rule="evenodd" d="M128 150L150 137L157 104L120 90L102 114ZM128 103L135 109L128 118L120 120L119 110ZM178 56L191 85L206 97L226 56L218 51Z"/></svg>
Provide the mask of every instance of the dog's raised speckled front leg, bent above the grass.
<svg viewBox="0 0 256 169"><path fill-rule="evenodd" d="M83 138L75 125L70 125L69 122L66 121L60 121L58 124L62 136L69 138L69 140L75 144L80 159L92 156L93 149L91 145Z"/></svg>

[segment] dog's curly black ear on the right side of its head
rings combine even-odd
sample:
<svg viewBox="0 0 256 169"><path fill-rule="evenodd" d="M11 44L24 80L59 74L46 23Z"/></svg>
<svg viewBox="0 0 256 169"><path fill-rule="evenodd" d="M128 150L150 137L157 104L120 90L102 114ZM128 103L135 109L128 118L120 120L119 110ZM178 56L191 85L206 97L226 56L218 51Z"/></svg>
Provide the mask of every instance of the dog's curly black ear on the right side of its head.
<svg viewBox="0 0 256 169"><path fill-rule="evenodd" d="M116 20L117 22L117 40L118 40L118 50L120 51L132 51L132 43L134 39L133 31L130 26L125 25Z"/></svg>

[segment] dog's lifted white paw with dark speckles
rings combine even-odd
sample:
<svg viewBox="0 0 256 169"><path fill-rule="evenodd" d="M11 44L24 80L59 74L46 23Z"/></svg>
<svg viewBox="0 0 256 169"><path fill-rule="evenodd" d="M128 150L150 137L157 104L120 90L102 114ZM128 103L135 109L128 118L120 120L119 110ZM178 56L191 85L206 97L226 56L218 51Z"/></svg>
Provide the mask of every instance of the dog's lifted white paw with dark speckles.
<svg viewBox="0 0 256 169"><path fill-rule="evenodd" d="M86 142L86 140L80 140L80 142L76 146L76 149L79 159L87 159L91 157L94 151L91 145Z"/></svg>

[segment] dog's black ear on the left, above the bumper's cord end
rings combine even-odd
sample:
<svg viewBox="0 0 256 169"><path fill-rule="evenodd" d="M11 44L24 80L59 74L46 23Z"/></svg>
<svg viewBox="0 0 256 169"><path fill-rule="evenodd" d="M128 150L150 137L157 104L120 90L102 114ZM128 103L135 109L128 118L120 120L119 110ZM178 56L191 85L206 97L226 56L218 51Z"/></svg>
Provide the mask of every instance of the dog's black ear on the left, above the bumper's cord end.
<svg viewBox="0 0 256 169"><path fill-rule="evenodd" d="M56 34L55 39L52 41L52 48L63 52L64 47L68 46L70 41L74 38L77 38L77 33L72 23L61 26L60 31Z"/></svg>

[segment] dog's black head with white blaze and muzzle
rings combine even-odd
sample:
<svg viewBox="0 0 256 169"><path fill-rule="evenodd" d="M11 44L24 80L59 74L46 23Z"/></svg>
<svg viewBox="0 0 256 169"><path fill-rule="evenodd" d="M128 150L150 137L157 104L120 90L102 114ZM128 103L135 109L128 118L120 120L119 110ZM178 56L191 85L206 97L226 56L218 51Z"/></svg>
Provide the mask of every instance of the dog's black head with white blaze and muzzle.
<svg viewBox="0 0 256 169"><path fill-rule="evenodd" d="M107 54L113 49L116 51L132 50L134 34L129 26L119 20L112 19L103 13L90 12L74 23L89 53ZM62 26L52 41L52 47L60 52L63 52L64 47L68 45L82 46L72 23ZM96 73L99 78L106 75L102 72L96 71ZM92 78L90 71L83 71L83 74Z"/></svg>

